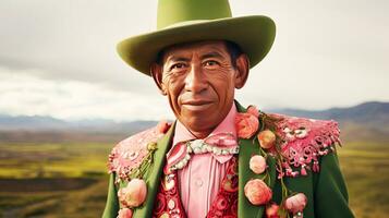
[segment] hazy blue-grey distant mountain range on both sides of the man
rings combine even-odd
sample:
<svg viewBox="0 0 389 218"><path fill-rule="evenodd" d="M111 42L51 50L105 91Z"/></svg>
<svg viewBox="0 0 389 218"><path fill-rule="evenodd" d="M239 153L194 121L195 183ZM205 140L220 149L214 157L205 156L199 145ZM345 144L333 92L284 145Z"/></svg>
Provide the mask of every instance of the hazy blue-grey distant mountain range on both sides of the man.
<svg viewBox="0 0 389 218"><path fill-rule="evenodd" d="M277 109L267 112L323 120L332 119L340 123L343 138L389 141L389 102L370 101L349 108L315 111ZM14 141L31 137L38 137L42 141L45 138L110 141L139 132L156 123L156 121L116 122L105 119L65 121L42 116L0 114L0 142L4 138Z"/></svg>

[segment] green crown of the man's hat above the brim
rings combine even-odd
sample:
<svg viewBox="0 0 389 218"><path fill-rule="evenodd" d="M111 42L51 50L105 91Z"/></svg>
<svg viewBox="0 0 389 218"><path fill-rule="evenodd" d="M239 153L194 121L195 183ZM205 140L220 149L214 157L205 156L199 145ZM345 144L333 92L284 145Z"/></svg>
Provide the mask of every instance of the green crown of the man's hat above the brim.
<svg viewBox="0 0 389 218"><path fill-rule="evenodd" d="M181 22L231 16L228 0L159 0L157 29Z"/></svg>

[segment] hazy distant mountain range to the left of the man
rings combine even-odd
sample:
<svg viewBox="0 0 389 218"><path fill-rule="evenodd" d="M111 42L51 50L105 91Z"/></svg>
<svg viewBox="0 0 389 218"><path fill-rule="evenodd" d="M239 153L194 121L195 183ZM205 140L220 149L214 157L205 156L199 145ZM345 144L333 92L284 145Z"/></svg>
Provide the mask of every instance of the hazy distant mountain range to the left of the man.
<svg viewBox="0 0 389 218"><path fill-rule="evenodd" d="M156 125L156 121L65 121L44 116L0 116L1 142L109 142L114 143Z"/></svg>

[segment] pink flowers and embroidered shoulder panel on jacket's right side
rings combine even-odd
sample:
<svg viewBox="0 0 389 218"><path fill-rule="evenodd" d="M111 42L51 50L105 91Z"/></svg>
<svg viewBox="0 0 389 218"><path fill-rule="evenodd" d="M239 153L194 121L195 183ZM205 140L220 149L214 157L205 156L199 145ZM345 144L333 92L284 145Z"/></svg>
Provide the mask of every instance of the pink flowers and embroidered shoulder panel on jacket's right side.
<svg viewBox="0 0 389 218"><path fill-rule="evenodd" d="M250 180L245 184L244 194L253 205L266 205L267 217L284 217L289 213L294 217L303 217L307 198L304 193L289 190L283 177L306 175L307 170L318 172L318 158L335 152L337 143L340 145L338 123L255 111L256 108L251 106L247 112L240 113L235 120L240 137L253 137L259 143L259 154L252 156L250 169L256 174L265 174L262 179ZM258 122L254 122L254 118ZM271 202L271 190L265 182L265 178L268 179L268 155L277 161L278 179L282 187L281 205Z"/></svg>

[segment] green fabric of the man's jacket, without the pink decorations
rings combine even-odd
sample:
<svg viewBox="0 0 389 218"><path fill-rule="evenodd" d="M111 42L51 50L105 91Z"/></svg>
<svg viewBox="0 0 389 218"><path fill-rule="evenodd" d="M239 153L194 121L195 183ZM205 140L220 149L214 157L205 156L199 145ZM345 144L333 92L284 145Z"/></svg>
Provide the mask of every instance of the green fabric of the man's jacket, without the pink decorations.
<svg viewBox="0 0 389 218"><path fill-rule="evenodd" d="M239 111L244 108L238 106ZM166 161L166 154L170 148L173 136L173 129L170 128L168 133L157 143L157 150L154 155L154 164L150 171L144 178L147 184L146 202L134 210L133 217L148 218L151 217L153 208L156 202L156 195L159 187L162 168ZM253 143L256 144L253 146ZM244 185L253 178L257 178L248 168L252 154L259 154L258 142L253 140L240 140L239 152L239 217L265 217L265 206L254 206L244 195ZM276 160L268 158L268 171L270 173L269 187L272 190L272 201L280 204L281 183L277 179ZM307 197L307 205L304 208L306 218L349 218L354 217L348 205L348 191L339 168L339 161L336 153L320 156L319 172L307 171L307 175L297 175L294 178L284 177L284 184L289 190L296 193L304 193ZM104 211L104 218L114 218L120 209L117 192L118 185L114 184L116 173L111 173L109 181L108 198ZM123 184L120 184L122 186Z"/></svg>

